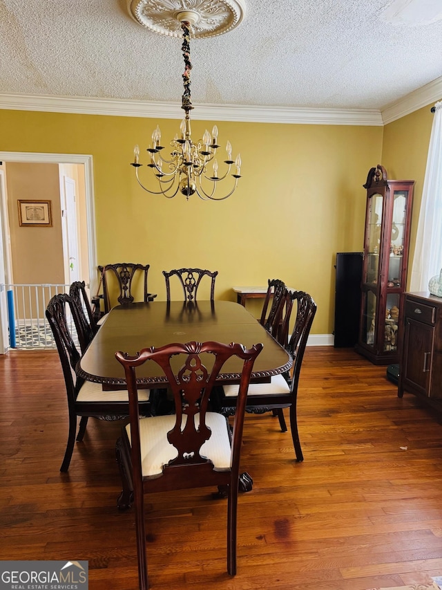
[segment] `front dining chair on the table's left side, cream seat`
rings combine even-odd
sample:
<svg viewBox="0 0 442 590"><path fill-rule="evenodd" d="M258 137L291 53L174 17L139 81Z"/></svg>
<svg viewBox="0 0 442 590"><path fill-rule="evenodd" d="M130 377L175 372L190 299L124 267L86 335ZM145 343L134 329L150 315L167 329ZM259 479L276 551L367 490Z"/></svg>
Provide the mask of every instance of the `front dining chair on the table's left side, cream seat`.
<svg viewBox="0 0 442 590"><path fill-rule="evenodd" d="M75 346L68 322L68 317L70 317L71 313L74 314L76 309L77 304L67 293L54 295L46 308L46 317L57 344L68 400L68 443L66 444L66 452L60 471L69 469L77 431L77 416L80 416L77 434L77 441L80 442L86 432L89 416L115 420L117 418L126 418L129 413L128 392L126 390L103 391L101 383L85 381L76 376L75 367L80 359L80 353ZM139 391L140 412L142 414L150 414L149 395L149 389Z"/></svg>

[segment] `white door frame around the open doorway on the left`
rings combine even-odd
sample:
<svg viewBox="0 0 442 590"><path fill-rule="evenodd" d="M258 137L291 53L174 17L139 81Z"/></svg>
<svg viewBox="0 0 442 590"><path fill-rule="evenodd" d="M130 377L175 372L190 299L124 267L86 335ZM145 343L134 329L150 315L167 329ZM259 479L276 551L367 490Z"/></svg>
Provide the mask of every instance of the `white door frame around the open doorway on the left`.
<svg viewBox="0 0 442 590"><path fill-rule="evenodd" d="M90 154L44 154L38 152L26 152L26 151L0 151L0 161L5 162L23 162L23 163L35 163L35 164L82 164L84 165L84 183L85 183L85 196L86 196L86 226L88 234L88 262L89 262L89 284L90 292L95 293L98 285L97 273L94 270L97 268L97 237L95 229L95 200L94 200L94 184L93 184L93 157ZM1 203L0 206L3 211L6 210L6 194L0 192ZM3 246L3 252L5 253L6 260L0 260L0 265L3 264L6 268L10 268L11 260L8 248L8 236L6 235L4 228L0 224L0 240ZM1 270L1 269L0 269ZM11 277L6 277L6 282L10 282ZM5 314L0 313L0 340L1 334L7 333L8 330L8 317ZM0 342L0 344L2 344ZM0 347L0 353L2 350L7 348L6 342L3 342L3 346Z"/></svg>

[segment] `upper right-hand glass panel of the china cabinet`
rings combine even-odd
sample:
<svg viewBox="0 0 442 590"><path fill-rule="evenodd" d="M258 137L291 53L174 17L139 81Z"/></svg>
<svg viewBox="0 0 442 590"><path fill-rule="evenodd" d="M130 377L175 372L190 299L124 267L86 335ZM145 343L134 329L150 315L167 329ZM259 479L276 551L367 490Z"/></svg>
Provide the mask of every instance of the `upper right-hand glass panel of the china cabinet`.
<svg viewBox="0 0 442 590"><path fill-rule="evenodd" d="M393 193L390 257L387 261L387 288L405 287L402 277L402 263L407 216L407 198L407 190L395 190Z"/></svg>

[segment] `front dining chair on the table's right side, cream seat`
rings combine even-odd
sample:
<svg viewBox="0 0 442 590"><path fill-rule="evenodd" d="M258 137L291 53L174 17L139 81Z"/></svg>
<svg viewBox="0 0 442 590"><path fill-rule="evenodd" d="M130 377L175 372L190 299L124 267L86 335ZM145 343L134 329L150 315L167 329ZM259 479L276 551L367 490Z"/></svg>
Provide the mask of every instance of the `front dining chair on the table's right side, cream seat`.
<svg viewBox="0 0 442 590"><path fill-rule="evenodd" d="M247 412L263 414L276 410L280 416L282 409L289 408L291 438L293 439L296 453L296 461L303 461L302 448L298 434L298 421L296 415L296 402L298 396L298 382L311 324L316 314L316 303L311 295L304 291L289 291L287 297L296 306L296 319L288 344L285 348L294 359L289 375L276 375L271 377L270 383L251 383L247 396ZM224 415L229 416L235 411L236 398L238 396L237 385L224 385L214 391L214 407ZM286 431L285 421L281 424L281 430Z"/></svg>

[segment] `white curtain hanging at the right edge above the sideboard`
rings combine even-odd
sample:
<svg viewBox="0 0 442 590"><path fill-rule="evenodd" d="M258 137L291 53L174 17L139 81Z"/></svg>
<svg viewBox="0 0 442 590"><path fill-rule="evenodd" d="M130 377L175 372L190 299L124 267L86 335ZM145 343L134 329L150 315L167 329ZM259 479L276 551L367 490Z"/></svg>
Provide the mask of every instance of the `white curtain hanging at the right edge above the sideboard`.
<svg viewBox="0 0 442 590"><path fill-rule="evenodd" d="M428 291L431 277L442 268L442 100L434 109L410 291Z"/></svg>

